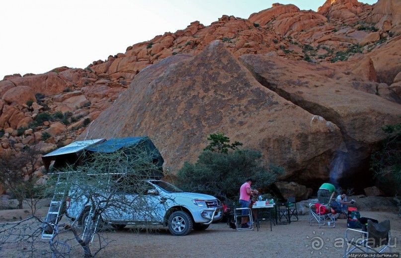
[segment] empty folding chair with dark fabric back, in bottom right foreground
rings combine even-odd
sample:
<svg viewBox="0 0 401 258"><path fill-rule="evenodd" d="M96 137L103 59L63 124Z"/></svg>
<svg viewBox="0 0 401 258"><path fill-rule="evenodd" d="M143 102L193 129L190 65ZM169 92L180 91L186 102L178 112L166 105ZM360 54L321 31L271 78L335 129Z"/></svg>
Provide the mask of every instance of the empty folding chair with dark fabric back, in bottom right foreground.
<svg viewBox="0 0 401 258"><path fill-rule="evenodd" d="M359 233L361 233L362 236L355 238L358 237ZM343 258L347 258L349 254L356 249L363 254L370 252L375 254L383 253L385 249L390 249L390 240L390 220L385 220L380 223L369 221L367 226L364 224L362 225L362 230L348 228L345 230L346 245Z"/></svg>

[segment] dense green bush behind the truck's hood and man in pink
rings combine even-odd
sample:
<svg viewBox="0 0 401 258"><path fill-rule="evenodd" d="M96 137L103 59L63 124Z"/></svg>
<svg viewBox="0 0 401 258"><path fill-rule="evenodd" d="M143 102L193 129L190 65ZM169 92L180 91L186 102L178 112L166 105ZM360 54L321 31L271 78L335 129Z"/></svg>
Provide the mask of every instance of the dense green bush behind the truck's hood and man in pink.
<svg viewBox="0 0 401 258"><path fill-rule="evenodd" d="M263 166L261 157L257 150L204 150L195 164L184 163L177 173L177 184L185 191L234 199L246 178L253 178L258 187L268 187L283 174L284 169L274 164Z"/></svg>

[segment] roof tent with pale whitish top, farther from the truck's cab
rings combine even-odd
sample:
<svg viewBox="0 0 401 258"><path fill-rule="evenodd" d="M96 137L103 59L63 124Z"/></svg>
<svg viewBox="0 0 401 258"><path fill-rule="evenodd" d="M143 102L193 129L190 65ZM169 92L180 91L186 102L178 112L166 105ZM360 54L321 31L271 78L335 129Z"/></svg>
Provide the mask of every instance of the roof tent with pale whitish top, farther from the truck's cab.
<svg viewBox="0 0 401 258"><path fill-rule="evenodd" d="M42 161L47 172L60 170L67 165L74 165L80 159L85 147L104 142L106 139L75 141L55 151L42 156ZM54 161L52 168L51 164ZM50 170L50 171L49 171Z"/></svg>

